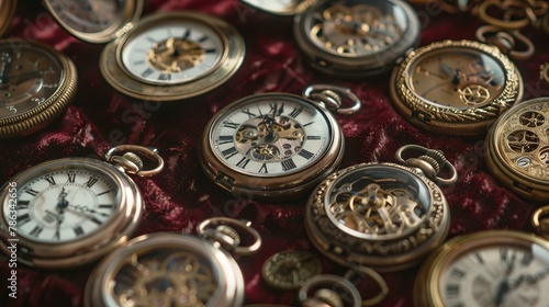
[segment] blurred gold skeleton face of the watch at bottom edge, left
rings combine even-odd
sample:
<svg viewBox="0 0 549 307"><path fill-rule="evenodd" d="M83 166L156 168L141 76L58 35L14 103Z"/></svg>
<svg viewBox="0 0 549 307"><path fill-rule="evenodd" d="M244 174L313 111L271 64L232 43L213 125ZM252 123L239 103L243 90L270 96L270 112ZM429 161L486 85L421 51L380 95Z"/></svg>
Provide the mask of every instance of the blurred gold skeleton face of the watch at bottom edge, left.
<svg viewBox="0 0 549 307"><path fill-rule="evenodd" d="M114 278L121 306L208 306L217 288L210 265L191 252L134 254L130 262Z"/></svg>

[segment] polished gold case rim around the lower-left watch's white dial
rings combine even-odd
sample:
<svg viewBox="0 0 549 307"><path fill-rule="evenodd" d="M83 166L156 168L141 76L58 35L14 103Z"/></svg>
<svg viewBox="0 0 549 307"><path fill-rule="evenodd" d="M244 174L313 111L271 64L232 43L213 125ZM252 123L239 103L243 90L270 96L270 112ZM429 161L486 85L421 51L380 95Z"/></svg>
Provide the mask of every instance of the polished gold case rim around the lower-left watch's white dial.
<svg viewBox="0 0 549 307"><path fill-rule="evenodd" d="M67 169L88 169L103 173L119 187L119 206L109 218L107 225L94 229L83 238L55 242L35 241L27 237L19 236L20 246L18 260L30 266L46 269L69 269L75 265L94 261L114 248L128 240L131 234L137 228L143 215L144 202L135 183L113 166L90 158L63 158L46 161L32 167L13 177L9 182L29 182L44 172ZM0 219L0 249L7 250L10 238L9 220L5 213L10 211L9 185L4 184L0 191L2 213Z"/></svg>

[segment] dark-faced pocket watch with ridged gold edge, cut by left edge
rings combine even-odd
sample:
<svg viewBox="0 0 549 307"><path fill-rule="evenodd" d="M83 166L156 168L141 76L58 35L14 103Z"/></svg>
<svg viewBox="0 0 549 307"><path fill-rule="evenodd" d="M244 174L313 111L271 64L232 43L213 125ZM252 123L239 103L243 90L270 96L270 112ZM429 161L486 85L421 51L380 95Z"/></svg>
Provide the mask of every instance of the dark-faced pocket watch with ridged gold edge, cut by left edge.
<svg viewBox="0 0 549 307"><path fill-rule="evenodd" d="M35 133L58 118L77 91L72 61L49 46L0 41L0 139Z"/></svg>

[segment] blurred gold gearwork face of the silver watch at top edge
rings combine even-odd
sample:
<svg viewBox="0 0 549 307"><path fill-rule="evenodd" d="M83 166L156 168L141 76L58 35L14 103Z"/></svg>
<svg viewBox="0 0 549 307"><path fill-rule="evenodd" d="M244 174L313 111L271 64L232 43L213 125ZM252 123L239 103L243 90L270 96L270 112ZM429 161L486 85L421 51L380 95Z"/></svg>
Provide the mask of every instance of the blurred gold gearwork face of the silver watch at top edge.
<svg viewBox="0 0 549 307"><path fill-rule="evenodd" d="M322 15L322 16L321 16ZM379 9L358 4L334 4L318 14L311 29L314 41L339 55L368 55L388 48L401 38L394 18Z"/></svg>

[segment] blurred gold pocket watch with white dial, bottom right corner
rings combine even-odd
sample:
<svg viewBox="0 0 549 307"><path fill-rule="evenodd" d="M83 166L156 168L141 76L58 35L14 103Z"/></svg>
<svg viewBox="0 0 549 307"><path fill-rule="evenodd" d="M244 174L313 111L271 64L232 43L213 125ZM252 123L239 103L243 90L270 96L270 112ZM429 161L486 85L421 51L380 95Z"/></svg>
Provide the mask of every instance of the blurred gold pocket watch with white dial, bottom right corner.
<svg viewBox="0 0 549 307"><path fill-rule="evenodd" d="M549 241L484 230L456 237L422 265L416 306L547 306Z"/></svg>

